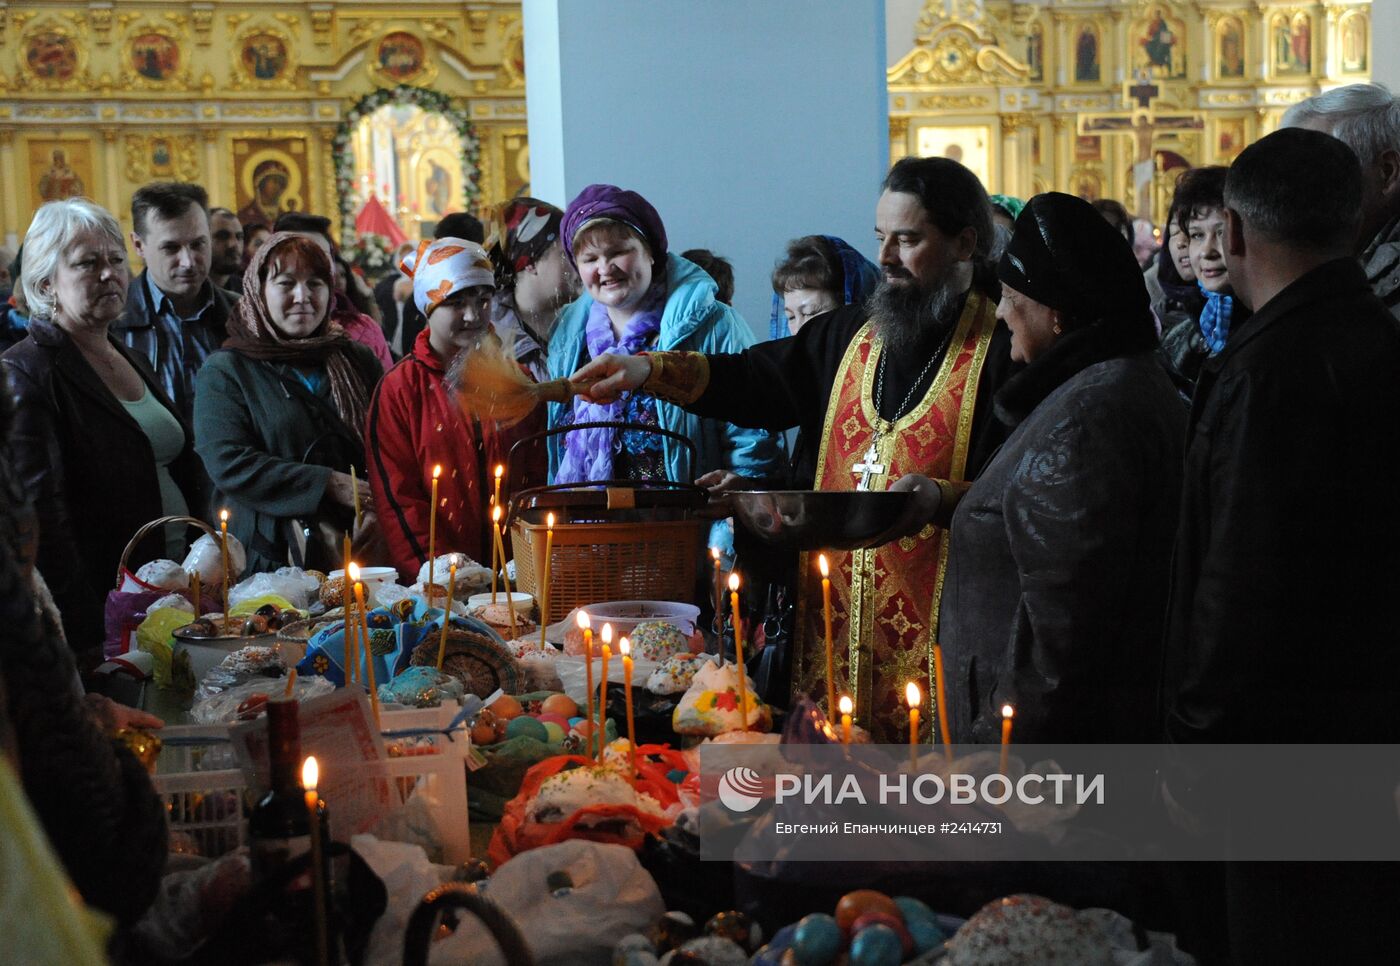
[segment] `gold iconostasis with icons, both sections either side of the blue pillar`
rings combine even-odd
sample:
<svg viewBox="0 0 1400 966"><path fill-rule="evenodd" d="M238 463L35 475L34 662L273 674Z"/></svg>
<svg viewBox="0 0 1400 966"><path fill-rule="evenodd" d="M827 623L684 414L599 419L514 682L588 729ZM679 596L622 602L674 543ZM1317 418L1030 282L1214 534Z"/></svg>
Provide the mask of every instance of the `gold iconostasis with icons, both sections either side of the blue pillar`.
<svg viewBox="0 0 1400 966"><path fill-rule="evenodd" d="M377 216L410 238L526 189L519 3L410 10L0 3L0 237L77 193L125 224L158 178L249 223ZM1369 80L1372 56L1371 0L927 0L914 34L888 73L892 160L955 157L994 192L1156 220L1180 169Z"/></svg>

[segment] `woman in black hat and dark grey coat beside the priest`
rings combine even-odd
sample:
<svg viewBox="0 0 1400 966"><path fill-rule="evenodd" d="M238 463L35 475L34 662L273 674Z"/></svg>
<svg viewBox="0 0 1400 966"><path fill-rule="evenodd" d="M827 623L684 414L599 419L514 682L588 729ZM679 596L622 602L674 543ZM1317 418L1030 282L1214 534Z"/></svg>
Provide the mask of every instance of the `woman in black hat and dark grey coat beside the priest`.
<svg viewBox="0 0 1400 966"><path fill-rule="evenodd" d="M1025 370L995 395L1007 442L952 514L952 736L995 742L1011 704L1018 741L1149 742L1186 412L1154 354L1142 274L1088 203L1047 193L1016 218L998 276Z"/></svg>

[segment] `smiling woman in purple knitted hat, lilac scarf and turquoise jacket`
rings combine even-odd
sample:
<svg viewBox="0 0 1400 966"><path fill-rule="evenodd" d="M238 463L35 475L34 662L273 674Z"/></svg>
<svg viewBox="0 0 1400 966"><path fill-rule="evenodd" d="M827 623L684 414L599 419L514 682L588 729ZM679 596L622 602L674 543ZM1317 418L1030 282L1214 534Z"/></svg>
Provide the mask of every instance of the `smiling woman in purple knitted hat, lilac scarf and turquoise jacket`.
<svg viewBox="0 0 1400 966"><path fill-rule="evenodd" d="M739 315L715 300L715 283L697 266L666 253L657 210L636 192L589 185L564 213L564 252L585 295L564 309L549 343L552 378L563 378L605 353L651 349L738 353L752 344ZM629 421L659 426L696 445L650 433L581 430L550 441L556 483L582 480L692 480L711 470L773 477L781 472L777 438L707 420L655 396L626 392L608 405L584 398L550 405L550 424Z"/></svg>

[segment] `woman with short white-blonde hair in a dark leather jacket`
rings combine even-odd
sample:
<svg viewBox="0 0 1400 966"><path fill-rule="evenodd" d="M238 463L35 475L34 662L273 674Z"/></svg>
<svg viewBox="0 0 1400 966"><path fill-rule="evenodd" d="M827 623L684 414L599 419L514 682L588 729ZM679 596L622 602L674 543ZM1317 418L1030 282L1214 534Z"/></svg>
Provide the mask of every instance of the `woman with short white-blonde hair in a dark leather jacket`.
<svg viewBox="0 0 1400 966"><path fill-rule="evenodd" d="M129 277L111 213L87 199L45 204L24 239L29 335L3 357L18 399L11 454L38 511L38 568L80 665L101 654L104 601L127 539L199 504L189 431L144 360L108 333ZM183 533L165 536L129 563L183 556Z"/></svg>

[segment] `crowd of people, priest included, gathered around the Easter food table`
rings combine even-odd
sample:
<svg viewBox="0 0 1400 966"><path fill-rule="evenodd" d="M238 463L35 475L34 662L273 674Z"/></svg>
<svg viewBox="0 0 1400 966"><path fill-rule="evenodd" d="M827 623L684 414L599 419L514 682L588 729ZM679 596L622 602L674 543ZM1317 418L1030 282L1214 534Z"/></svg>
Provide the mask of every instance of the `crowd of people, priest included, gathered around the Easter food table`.
<svg viewBox="0 0 1400 966"><path fill-rule="evenodd" d="M1400 98L1295 105L1231 167L1186 172L1161 238L1121 206L988 196L946 158L897 162L874 214L874 262L833 235L788 245L756 343L728 265L676 255L661 213L612 185L449 216L372 288L322 217L255 230L196 185L148 185L133 276L109 211L48 203L0 319L6 594L52 591L62 676L97 662L118 560L158 517L227 508L252 570L333 566L353 531L412 580L434 465L438 540L484 559L491 468L578 426L524 448L517 483L699 480L721 508L734 489L914 494L896 539L832 554L837 675L876 739L899 741L907 680L932 690L937 644L959 742L994 742L1008 701L1025 742L1394 742ZM484 339L585 393L511 428L463 412L454 361ZM595 426L619 420L637 428ZM785 577L791 680L825 696L811 563ZM0 651L11 718L18 647ZM64 713L91 738L77 694ZM15 724L28 785L41 752ZM1162 794L1189 812L1193 791ZM88 902L139 914L148 890L113 896L76 868L95 860L62 858ZM1400 878L1331 869L1319 896L1315 874L1196 874L1175 925L1207 960L1288 962L1280 923L1354 923ZM1392 949L1394 931L1347 935Z"/></svg>

